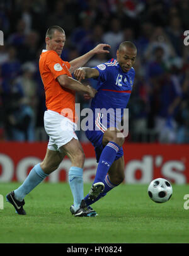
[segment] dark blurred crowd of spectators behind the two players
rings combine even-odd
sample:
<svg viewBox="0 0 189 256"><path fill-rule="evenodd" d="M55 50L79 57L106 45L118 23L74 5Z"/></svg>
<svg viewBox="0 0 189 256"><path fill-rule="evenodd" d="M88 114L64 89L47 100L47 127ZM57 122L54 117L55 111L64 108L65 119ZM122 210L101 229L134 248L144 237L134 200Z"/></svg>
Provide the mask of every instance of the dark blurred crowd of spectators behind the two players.
<svg viewBox="0 0 189 256"><path fill-rule="evenodd" d="M0 3L0 139L45 141L45 93L38 59L51 25L66 32L64 61L99 43L110 54L95 55L86 66L115 57L118 45L134 42L138 55L130 97L129 142L189 143L189 1L169 0L6 0ZM84 81L95 86L93 80ZM81 109L89 101L77 94ZM84 132L78 131L81 141Z"/></svg>

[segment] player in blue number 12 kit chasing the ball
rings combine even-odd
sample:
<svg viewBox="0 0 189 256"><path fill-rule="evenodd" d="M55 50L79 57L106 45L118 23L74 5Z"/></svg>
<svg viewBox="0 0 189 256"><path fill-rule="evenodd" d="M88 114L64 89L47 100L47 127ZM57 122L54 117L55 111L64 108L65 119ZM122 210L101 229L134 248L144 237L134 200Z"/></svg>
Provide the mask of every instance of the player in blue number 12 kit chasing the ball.
<svg viewBox="0 0 189 256"><path fill-rule="evenodd" d="M111 59L94 68L80 67L74 72L79 81L85 78L98 80L98 92L91 101L93 129L86 131L86 137L95 147L98 168L89 194L84 198L87 206L105 196L125 178L122 148L125 137L120 136L122 132L118 129L118 123L123 119L123 110L127 107L132 91L135 76L132 66L136 57L135 45L125 41L118 47L117 59ZM120 116L116 115L117 109L121 110ZM110 115L103 110L110 110Z"/></svg>

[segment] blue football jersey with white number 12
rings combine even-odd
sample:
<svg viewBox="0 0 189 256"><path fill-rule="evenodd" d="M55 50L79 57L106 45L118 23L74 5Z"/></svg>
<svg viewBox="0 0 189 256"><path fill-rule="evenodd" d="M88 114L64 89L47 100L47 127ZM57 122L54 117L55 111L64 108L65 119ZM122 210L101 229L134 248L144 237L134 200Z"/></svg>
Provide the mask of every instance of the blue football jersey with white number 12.
<svg viewBox="0 0 189 256"><path fill-rule="evenodd" d="M100 75L97 78L98 92L91 101L94 118L105 122L102 125L104 127L117 127L129 102L135 70L132 67L124 73L116 59L100 64L95 69L98 69Z"/></svg>

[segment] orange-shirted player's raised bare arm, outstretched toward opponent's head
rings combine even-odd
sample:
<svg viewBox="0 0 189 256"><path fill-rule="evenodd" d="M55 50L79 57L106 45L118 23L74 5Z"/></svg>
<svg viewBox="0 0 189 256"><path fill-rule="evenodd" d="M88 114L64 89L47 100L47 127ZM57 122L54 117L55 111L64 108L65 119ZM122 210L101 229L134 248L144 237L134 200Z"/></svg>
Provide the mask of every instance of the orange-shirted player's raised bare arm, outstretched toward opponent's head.
<svg viewBox="0 0 189 256"><path fill-rule="evenodd" d="M101 53L109 53L109 50L106 50L106 48L111 48L108 44L98 44L95 48L87 52L86 54L78 57L77 59L74 59L73 61L69 62L71 64L71 67L69 69L70 73L73 73L74 70L76 70L79 67L84 66L86 62L91 59L95 54L101 54Z"/></svg>

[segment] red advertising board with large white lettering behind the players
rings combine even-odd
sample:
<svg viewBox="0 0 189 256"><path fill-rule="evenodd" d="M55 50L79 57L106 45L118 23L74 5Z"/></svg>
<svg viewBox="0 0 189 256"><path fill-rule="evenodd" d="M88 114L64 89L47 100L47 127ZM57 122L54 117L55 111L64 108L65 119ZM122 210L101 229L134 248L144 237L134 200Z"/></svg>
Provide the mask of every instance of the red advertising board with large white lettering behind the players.
<svg viewBox="0 0 189 256"><path fill-rule="evenodd" d="M86 160L84 182L92 182L96 158L90 143L82 144ZM0 143L0 182L23 182L31 168L43 160L47 143ZM189 183L189 145L129 144L123 145L125 183L149 183L163 177L170 182ZM64 158L59 168L46 178L47 182L67 182L71 162Z"/></svg>

